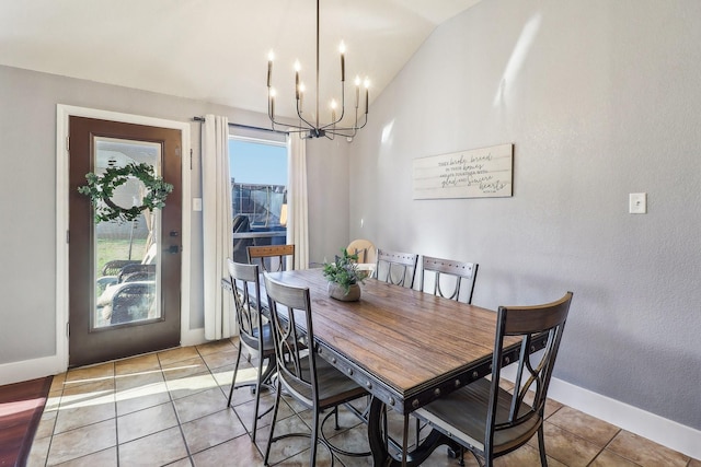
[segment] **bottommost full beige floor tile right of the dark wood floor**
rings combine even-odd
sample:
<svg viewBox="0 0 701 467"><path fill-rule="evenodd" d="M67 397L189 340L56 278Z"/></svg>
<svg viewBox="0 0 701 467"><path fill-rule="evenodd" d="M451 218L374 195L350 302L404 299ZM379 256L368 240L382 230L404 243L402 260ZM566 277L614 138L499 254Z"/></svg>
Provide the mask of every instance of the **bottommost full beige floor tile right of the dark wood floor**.
<svg viewBox="0 0 701 467"><path fill-rule="evenodd" d="M106 450L117 444L115 419L55 434L47 465L56 465Z"/></svg>

